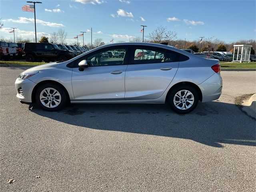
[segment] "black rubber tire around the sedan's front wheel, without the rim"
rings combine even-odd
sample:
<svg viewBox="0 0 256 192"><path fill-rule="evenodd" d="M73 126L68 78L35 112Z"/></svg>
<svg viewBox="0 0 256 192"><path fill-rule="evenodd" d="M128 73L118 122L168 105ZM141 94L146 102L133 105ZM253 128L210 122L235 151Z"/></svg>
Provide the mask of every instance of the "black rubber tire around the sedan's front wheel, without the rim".
<svg viewBox="0 0 256 192"><path fill-rule="evenodd" d="M41 92L43 90L47 89L47 88L53 88L53 89L57 90L60 93L60 97L61 97L60 102L59 102L58 106L56 106L54 108L48 108L48 107L44 106L42 104L42 102L40 101ZM50 94L54 94L54 93L50 92ZM46 102L46 103L48 103L48 102ZM38 89L36 90L36 103L43 110L58 111L58 110L62 109L64 106L66 106L66 104L68 103L68 97L67 97L67 94L66 94L65 90L61 86L59 86L58 84L46 83L46 84L42 84L41 86L39 86ZM55 104L54 100L51 100L51 104L52 104L52 106L54 106L54 104Z"/></svg>

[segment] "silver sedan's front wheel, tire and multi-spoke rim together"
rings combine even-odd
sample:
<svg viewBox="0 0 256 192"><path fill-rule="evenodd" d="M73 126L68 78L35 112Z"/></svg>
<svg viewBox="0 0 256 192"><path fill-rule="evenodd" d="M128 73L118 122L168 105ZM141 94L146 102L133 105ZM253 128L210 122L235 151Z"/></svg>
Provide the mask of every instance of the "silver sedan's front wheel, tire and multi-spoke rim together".
<svg viewBox="0 0 256 192"><path fill-rule="evenodd" d="M65 90L52 83L42 84L36 91L36 103L46 111L58 111L67 103Z"/></svg>

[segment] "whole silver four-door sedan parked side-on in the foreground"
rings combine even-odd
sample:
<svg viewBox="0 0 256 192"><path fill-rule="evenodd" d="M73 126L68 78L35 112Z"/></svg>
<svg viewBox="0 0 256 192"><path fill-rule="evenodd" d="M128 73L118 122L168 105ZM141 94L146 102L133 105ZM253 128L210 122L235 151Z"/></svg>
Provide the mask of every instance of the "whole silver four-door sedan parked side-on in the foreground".
<svg viewBox="0 0 256 192"><path fill-rule="evenodd" d="M106 52L124 52L124 57L104 57ZM22 103L37 103L47 111L70 102L167 102L174 112L185 114L198 101L218 99L222 78L218 60L162 44L131 42L100 46L68 61L30 68L18 76L15 87Z"/></svg>

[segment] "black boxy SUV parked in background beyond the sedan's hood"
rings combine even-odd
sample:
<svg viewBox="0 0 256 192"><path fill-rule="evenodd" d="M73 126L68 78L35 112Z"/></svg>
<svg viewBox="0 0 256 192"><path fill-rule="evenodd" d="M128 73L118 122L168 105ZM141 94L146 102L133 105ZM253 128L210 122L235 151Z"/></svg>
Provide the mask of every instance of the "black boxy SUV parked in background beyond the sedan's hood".
<svg viewBox="0 0 256 192"><path fill-rule="evenodd" d="M74 52L61 50L56 44L52 43L25 43L23 57L29 62L62 61L73 58Z"/></svg>

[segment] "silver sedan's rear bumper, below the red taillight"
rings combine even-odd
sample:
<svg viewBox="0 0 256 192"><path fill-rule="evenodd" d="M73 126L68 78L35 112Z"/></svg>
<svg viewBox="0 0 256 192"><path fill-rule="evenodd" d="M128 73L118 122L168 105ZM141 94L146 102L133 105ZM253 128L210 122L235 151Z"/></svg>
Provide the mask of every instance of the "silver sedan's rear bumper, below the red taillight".
<svg viewBox="0 0 256 192"><path fill-rule="evenodd" d="M213 101L222 93L222 78L220 74L215 73L198 86L202 91L202 102Z"/></svg>

